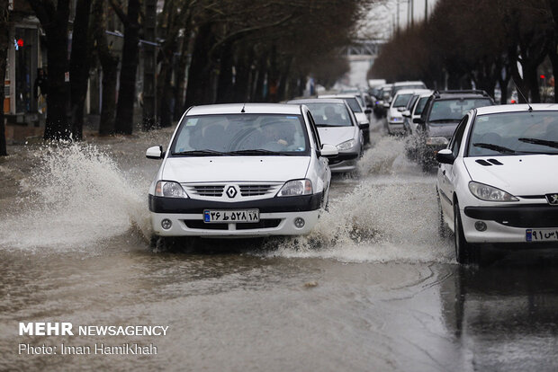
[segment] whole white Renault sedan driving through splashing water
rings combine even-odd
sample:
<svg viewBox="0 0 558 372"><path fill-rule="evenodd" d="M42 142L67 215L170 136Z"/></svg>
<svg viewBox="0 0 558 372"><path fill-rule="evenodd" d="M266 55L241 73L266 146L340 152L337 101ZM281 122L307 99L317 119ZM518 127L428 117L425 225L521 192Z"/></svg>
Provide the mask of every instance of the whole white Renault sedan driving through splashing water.
<svg viewBox="0 0 558 372"><path fill-rule="evenodd" d="M154 235L308 234L326 208L331 171L306 106L217 104L184 113L149 188Z"/></svg>

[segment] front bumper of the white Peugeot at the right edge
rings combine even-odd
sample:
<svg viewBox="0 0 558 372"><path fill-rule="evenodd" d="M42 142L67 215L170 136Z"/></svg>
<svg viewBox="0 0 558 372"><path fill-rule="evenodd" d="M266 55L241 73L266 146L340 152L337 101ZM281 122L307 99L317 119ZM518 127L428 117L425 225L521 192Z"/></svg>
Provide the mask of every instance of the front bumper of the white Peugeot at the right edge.
<svg viewBox="0 0 558 372"><path fill-rule="evenodd" d="M462 213L465 239L469 243L523 243L528 229L555 231L558 235L558 208L545 204L523 204L513 207L465 207ZM482 221L486 231L478 231L474 224ZM542 243L542 242L541 242ZM558 242L545 242L555 244Z"/></svg>

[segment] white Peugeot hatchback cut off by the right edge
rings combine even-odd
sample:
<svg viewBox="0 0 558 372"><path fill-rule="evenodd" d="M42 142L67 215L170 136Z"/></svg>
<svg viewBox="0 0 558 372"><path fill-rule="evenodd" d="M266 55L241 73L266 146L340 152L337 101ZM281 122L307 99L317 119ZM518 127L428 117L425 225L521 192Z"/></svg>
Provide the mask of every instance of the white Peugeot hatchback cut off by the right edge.
<svg viewBox="0 0 558 372"><path fill-rule="evenodd" d="M458 262L478 261L482 244L558 246L558 105L473 109L437 160Z"/></svg>

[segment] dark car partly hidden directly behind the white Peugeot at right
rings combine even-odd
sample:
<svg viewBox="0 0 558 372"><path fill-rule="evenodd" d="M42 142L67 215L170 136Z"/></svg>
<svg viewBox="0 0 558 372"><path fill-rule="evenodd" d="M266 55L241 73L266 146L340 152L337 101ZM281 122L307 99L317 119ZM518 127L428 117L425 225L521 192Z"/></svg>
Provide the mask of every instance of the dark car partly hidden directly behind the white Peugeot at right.
<svg viewBox="0 0 558 372"><path fill-rule="evenodd" d="M436 154L445 148L464 114L494 104L488 93L478 90L436 91L426 103L416 130L417 155L425 171L436 165Z"/></svg>

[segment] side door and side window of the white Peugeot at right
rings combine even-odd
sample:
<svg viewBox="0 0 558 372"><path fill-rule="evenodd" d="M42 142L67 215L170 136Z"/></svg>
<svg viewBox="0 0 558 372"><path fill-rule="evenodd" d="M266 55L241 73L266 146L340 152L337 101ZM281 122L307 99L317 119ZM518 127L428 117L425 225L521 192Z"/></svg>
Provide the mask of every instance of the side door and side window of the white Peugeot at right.
<svg viewBox="0 0 558 372"><path fill-rule="evenodd" d="M459 149L463 143L465 128L469 122L470 115L464 116L457 128L455 129L454 136L452 137L447 148L452 150L454 158L459 155ZM440 202L442 205L442 210L447 217L454 216L454 203L453 196L455 192L455 163L454 164L439 164L438 166L438 192L440 194Z"/></svg>

